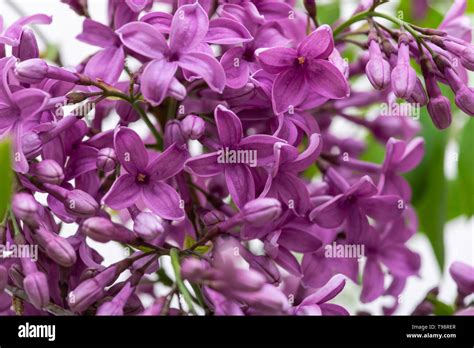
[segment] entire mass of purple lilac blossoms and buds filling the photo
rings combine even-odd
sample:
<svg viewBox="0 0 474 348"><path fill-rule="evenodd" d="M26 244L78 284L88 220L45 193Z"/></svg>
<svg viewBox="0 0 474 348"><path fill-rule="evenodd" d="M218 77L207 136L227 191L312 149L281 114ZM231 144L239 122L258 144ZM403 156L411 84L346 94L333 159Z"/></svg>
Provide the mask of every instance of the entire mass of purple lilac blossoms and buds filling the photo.
<svg viewBox="0 0 474 348"><path fill-rule="evenodd" d="M0 26L0 132L16 175L0 243L39 248L37 260L0 259L2 314L347 315L331 303L347 281L362 303L389 296L384 312L397 309L421 265L403 173L424 140L409 115L351 110L401 98L444 129L442 83L473 116L465 2L437 29L383 26L379 1L333 28L314 1L109 0L106 24L86 1L62 2L84 16L77 40L98 48L75 67L40 58L29 25L51 17ZM341 52L358 20L368 52L349 65ZM351 85L363 73L375 90ZM342 136L341 119L385 147L382 163L360 159L366 144ZM104 266L89 239L129 254ZM462 310L473 270L451 274Z"/></svg>

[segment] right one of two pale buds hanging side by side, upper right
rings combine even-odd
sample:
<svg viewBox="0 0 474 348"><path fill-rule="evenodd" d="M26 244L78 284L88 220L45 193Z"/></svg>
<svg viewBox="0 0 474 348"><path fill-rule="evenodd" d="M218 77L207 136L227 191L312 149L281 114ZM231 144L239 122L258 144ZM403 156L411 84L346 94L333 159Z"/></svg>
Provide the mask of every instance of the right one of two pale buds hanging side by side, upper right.
<svg viewBox="0 0 474 348"><path fill-rule="evenodd" d="M398 46L397 66L392 70L392 88L398 98L407 99L416 85L416 72L410 65L408 43L401 41Z"/></svg>

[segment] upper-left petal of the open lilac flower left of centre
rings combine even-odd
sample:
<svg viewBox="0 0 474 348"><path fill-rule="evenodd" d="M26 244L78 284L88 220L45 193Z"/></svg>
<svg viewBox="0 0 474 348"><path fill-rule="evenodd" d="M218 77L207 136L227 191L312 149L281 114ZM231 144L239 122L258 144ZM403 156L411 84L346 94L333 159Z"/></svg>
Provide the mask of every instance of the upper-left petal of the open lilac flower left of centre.
<svg viewBox="0 0 474 348"><path fill-rule="evenodd" d="M132 175L145 172L148 153L134 130L119 127L114 134L114 147L120 164Z"/></svg>

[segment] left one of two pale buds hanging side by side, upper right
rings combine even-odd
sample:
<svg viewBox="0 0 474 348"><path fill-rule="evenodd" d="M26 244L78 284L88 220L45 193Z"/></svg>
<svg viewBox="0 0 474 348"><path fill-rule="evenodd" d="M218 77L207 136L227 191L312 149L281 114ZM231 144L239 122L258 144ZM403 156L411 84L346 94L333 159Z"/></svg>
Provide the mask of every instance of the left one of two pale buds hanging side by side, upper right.
<svg viewBox="0 0 474 348"><path fill-rule="evenodd" d="M369 52L365 73L375 89L383 90L390 83L390 64L383 58L377 41L370 41Z"/></svg>

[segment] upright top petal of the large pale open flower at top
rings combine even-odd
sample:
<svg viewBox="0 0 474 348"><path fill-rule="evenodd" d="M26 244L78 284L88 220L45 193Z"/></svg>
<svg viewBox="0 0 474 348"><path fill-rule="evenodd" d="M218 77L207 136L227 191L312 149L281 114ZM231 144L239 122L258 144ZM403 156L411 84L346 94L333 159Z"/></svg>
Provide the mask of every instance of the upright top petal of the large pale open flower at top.
<svg viewBox="0 0 474 348"><path fill-rule="evenodd" d="M196 1L176 10L171 22L170 50L173 53L187 52L198 46L206 36L209 18Z"/></svg>

